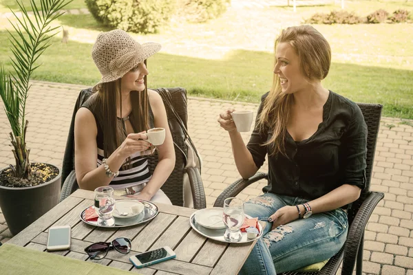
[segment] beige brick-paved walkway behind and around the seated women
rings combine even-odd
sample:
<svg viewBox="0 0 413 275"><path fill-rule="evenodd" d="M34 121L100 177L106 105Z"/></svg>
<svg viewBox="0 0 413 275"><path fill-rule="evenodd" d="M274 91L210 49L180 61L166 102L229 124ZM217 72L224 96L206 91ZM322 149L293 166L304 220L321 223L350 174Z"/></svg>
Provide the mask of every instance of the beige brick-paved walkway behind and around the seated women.
<svg viewBox="0 0 413 275"><path fill-rule="evenodd" d="M83 88L33 83L27 107L30 121L27 141L32 162L61 166L72 109ZM257 104L189 98L189 133L204 159L202 179L208 206L213 205L226 186L239 178L229 137L216 122L218 113L229 106L257 109ZM367 225L363 265L366 274L413 275L413 121L400 122L392 118L383 118L381 122L372 190L385 192L385 199ZM3 111L0 111L0 129L0 167L4 167L14 159L8 140L10 128ZM243 137L248 140L248 133ZM239 197L247 200L260 195L264 185L265 182L253 184ZM6 242L10 237L0 212L0 241Z"/></svg>

